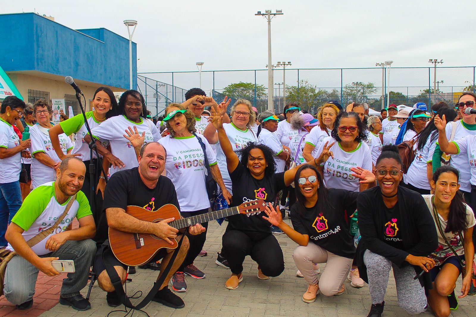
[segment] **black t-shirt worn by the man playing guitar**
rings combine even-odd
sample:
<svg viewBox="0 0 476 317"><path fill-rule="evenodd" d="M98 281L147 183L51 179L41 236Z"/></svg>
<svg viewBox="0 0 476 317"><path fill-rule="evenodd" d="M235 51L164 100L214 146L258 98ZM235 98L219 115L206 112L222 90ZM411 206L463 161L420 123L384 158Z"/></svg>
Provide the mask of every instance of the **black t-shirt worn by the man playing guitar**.
<svg viewBox="0 0 476 317"><path fill-rule="evenodd" d="M180 210L172 181L160 176L155 188L151 189L142 182L136 167L112 174L104 191L102 208L105 211L107 208L126 209L127 206L139 206L154 211L167 204L175 205ZM103 223L101 228L98 228L97 242L101 242L98 236L103 236L104 233L107 238L107 232L107 223Z"/></svg>

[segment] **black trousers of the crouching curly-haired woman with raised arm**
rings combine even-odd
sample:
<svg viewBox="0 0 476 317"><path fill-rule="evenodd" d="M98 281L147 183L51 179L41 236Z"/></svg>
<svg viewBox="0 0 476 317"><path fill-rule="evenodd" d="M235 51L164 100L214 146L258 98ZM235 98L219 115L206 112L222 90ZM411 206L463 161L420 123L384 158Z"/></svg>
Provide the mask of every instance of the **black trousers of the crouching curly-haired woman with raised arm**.
<svg viewBox="0 0 476 317"><path fill-rule="evenodd" d="M243 271L247 255L258 263L264 275L276 277L284 271L283 251L272 234L248 236L239 230L227 230L222 237L222 252L228 260L231 273Z"/></svg>

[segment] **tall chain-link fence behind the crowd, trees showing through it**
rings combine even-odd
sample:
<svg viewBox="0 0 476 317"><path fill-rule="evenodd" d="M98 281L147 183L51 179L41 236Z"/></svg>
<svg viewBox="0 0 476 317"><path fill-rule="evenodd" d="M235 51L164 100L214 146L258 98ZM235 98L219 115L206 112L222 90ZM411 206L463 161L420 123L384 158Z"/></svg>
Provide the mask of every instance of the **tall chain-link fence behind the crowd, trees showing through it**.
<svg viewBox="0 0 476 317"><path fill-rule="evenodd" d="M412 106L454 104L463 91L475 92L476 67L274 69L273 104L276 112L296 102L311 113L329 100L342 105L367 102L380 110L387 104ZM436 80L435 80L436 71ZM201 80L200 80L201 79ZM185 92L201 88L218 102L224 96L250 100L258 111L268 107L268 70L209 70L154 72L138 75L139 89L152 114L161 114L169 102L183 102ZM286 82L284 87L283 82ZM179 88L183 87L183 88Z"/></svg>

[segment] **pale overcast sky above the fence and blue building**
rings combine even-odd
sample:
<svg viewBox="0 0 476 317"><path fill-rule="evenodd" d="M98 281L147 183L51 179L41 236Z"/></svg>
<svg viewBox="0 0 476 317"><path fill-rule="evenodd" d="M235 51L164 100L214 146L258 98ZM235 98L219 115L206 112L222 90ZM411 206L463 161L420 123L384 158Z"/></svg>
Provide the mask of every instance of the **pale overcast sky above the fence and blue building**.
<svg viewBox="0 0 476 317"><path fill-rule="evenodd" d="M138 20L138 71L154 72L194 71L197 61L203 70L264 69L267 23L254 14L266 9L284 13L271 22L274 64L358 68L393 60L392 67L428 67L430 58L443 59L442 66L476 64L474 0L17 0L0 10L35 10L72 29L102 27L126 38L122 21Z"/></svg>

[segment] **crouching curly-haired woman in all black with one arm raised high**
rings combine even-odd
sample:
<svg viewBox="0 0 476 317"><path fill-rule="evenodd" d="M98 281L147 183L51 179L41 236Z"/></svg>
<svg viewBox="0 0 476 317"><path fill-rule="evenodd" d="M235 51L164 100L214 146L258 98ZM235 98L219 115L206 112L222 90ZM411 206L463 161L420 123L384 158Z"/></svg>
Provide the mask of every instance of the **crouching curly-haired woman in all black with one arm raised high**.
<svg viewBox="0 0 476 317"><path fill-rule="evenodd" d="M297 167L276 173L275 153L262 144L249 142L235 153L221 116L214 116L211 122L218 130L219 144L226 156L233 186L231 206L256 199L274 203L278 192L294 181ZM315 159L308 164L316 167L320 161ZM222 237L223 256L231 270L231 277L225 283L228 289L237 288L243 280L243 261L247 255L258 262L259 279L276 277L284 271L283 252L263 215L228 217L228 227Z"/></svg>

